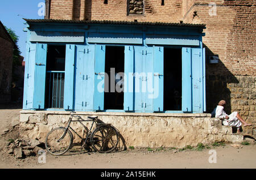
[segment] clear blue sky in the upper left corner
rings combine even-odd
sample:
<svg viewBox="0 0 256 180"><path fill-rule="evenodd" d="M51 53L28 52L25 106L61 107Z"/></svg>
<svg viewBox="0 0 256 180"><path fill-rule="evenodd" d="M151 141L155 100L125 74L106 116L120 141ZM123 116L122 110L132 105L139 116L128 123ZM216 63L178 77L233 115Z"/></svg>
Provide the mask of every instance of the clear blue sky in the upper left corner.
<svg viewBox="0 0 256 180"><path fill-rule="evenodd" d="M44 16L38 14L40 2L44 2L44 0L1 0L0 20L3 25L13 29L19 36L18 46L23 57L26 55L27 34L23 32L26 25L24 25L25 21L22 18L43 19Z"/></svg>

